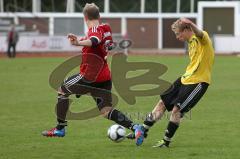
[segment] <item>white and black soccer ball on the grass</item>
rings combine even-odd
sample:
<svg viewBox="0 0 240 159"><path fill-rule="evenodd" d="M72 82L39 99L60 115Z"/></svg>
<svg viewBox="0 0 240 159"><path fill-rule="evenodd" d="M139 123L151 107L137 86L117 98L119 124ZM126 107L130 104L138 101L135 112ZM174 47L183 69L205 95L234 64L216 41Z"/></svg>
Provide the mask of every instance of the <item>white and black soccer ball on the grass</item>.
<svg viewBox="0 0 240 159"><path fill-rule="evenodd" d="M125 138L126 130L123 126L114 124L107 132L108 138L114 142L120 142Z"/></svg>

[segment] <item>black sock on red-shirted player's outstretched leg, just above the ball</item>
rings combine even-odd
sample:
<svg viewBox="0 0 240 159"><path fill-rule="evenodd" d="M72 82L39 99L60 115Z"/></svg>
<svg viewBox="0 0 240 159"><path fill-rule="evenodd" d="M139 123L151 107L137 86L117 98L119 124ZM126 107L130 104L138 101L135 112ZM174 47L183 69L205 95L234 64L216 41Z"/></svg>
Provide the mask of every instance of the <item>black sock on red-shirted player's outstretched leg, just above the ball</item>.
<svg viewBox="0 0 240 159"><path fill-rule="evenodd" d="M120 112L116 109L112 109L108 113L108 119L113 120L116 123L118 123L119 125L122 125L123 127L132 130L133 122L128 117L126 117L122 112Z"/></svg>

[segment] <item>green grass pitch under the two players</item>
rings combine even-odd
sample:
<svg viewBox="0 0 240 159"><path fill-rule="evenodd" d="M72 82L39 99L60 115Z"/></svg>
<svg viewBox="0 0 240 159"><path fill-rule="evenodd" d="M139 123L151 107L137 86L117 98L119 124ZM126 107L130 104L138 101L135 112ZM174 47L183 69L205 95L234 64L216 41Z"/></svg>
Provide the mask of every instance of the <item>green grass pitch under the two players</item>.
<svg viewBox="0 0 240 159"><path fill-rule="evenodd" d="M184 73L188 57L130 56L129 61L153 61L168 66L162 76L173 82ZM0 59L1 159L238 159L240 156L240 58L217 56L212 84L204 98L185 118L169 149L151 146L162 138L167 116L149 132L142 146L133 141L113 143L107 129L113 122L96 117L69 121L64 138L45 138L41 131L55 126L56 92L49 86L52 70L66 58ZM75 71L77 72L78 69ZM131 72L132 75L135 72ZM114 91L115 92L115 91ZM74 98L72 111L94 102ZM158 96L138 97L129 106L119 97L118 109L141 123ZM139 114L138 114L139 112Z"/></svg>

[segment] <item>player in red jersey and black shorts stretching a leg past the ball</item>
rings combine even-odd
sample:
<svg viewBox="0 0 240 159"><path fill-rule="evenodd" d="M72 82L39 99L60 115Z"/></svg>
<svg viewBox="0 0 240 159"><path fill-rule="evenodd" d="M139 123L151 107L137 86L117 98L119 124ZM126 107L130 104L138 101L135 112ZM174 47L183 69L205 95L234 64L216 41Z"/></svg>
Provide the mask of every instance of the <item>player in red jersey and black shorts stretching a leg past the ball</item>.
<svg viewBox="0 0 240 159"><path fill-rule="evenodd" d="M50 130L43 131L42 135L47 137L65 136L69 96L90 93L105 118L134 131L136 145L139 146L144 140L144 127L133 124L123 113L112 107L111 72L106 58L108 49L113 45L111 28L107 24L100 24L99 9L94 3L86 4L83 14L88 26L87 36L78 39L74 34L68 35L72 45L83 46L80 73L69 77L60 86L56 105L58 124ZM99 90L102 93L99 94ZM99 97L101 94L102 97Z"/></svg>

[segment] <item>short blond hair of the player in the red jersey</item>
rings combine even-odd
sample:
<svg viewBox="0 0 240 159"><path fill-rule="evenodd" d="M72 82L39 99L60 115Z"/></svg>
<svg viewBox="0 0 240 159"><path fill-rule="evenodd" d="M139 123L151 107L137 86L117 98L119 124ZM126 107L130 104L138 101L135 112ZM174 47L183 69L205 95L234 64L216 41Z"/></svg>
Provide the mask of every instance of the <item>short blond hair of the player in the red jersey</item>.
<svg viewBox="0 0 240 159"><path fill-rule="evenodd" d="M95 3L86 3L83 8L83 14L89 20L95 20L100 18L99 8Z"/></svg>

